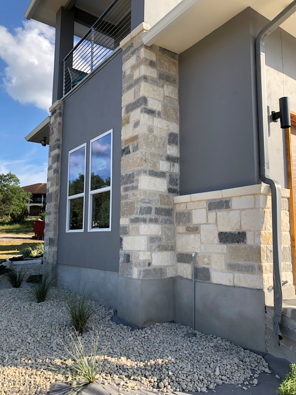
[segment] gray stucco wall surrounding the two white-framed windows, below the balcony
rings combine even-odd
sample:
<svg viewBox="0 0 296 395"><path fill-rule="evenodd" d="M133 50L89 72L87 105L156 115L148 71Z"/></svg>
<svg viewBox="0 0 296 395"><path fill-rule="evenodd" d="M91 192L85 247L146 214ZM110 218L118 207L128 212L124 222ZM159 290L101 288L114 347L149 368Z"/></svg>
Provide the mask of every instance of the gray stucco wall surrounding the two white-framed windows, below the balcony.
<svg viewBox="0 0 296 395"><path fill-rule="evenodd" d="M118 272L122 54L119 52L64 104L57 263ZM111 232L87 232L90 140L113 129ZM66 233L68 153L87 143L84 232Z"/></svg>

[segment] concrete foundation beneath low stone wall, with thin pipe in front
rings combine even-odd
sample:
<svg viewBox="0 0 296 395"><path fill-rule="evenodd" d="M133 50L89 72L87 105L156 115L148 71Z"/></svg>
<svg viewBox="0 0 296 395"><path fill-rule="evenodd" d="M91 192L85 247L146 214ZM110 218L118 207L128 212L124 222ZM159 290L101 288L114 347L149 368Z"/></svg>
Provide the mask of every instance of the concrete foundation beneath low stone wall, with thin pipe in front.
<svg viewBox="0 0 296 395"><path fill-rule="evenodd" d="M174 320L192 327L192 280L175 277ZM195 281L195 329L264 351L264 293Z"/></svg>

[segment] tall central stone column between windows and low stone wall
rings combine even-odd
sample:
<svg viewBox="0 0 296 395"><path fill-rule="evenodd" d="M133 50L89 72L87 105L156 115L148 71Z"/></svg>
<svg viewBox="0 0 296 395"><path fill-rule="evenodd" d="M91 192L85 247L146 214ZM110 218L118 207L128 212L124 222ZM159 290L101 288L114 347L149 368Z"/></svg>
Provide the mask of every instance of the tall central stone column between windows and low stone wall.
<svg viewBox="0 0 296 395"><path fill-rule="evenodd" d="M179 194L178 55L146 47L139 25L121 43L122 159L119 274L175 276L173 197ZM123 262L123 253L130 262Z"/></svg>

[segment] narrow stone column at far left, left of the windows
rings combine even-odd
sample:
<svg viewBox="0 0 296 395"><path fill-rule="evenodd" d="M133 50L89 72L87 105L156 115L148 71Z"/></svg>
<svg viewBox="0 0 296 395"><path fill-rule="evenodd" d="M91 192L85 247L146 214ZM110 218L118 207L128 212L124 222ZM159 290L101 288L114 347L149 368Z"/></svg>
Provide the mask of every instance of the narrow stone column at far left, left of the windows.
<svg viewBox="0 0 296 395"><path fill-rule="evenodd" d="M44 267L53 278L56 273L58 249L58 219L60 199L62 123L64 102L57 100L50 108L50 131L46 188L46 210L44 231Z"/></svg>

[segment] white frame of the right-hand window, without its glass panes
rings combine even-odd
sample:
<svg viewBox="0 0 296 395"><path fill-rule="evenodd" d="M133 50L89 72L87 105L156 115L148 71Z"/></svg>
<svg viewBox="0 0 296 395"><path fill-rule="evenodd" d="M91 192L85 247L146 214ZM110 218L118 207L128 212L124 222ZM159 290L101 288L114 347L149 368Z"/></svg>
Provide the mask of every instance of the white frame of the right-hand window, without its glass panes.
<svg viewBox="0 0 296 395"><path fill-rule="evenodd" d="M99 140L100 138L106 136L107 134L111 134L111 163L110 163L110 187L104 187L100 189L96 189L94 191L90 190L90 179L91 179L91 145L94 141ZM112 167L113 167L113 129L108 130L105 133L100 134L99 136L95 137L94 139L90 140L90 150L89 150L89 187L88 187L88 232L111 232L111 214L112 214ZM92 213L92 196L98 193L110 191L110 219L109 219L109 228L91 228L91 213Z"/></svg>

